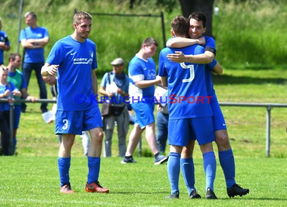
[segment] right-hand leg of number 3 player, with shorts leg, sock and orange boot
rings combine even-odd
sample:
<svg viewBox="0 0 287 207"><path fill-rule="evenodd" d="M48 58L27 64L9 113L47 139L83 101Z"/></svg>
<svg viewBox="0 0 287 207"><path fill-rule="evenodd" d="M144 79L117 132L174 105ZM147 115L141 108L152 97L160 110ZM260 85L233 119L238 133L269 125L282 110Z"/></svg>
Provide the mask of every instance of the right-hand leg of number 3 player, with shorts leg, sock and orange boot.
<svg viewBox="0 0 287 207"><path fill-rule="evenodd" d="M104 132L103 122L98 107L92 107L84 111L83 131L89 131L91 143L88 150L88 181L86 183L87 192L108 193L109 189L102 187L99 182L101 153Z"/></svg>

